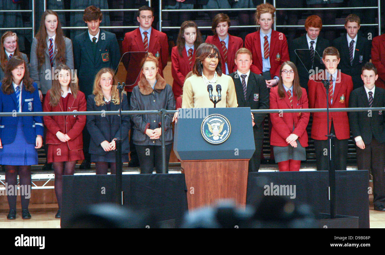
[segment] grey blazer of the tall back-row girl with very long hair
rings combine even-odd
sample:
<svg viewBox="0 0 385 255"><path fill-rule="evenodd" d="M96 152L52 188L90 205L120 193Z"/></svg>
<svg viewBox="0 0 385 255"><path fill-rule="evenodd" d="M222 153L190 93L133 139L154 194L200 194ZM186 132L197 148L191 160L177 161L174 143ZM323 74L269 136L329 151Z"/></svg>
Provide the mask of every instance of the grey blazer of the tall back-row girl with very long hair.
<svg viewBox="0 0 385 255"><path fill-rule="evenodd" d="M64 37L65 42L65 64L70 68L74 69L74 53L72 52L72 41L71 39ZM47 94L47 91L52 87L52 79L54 74L51 75L51 63L49 59L48 47L45 49L45 61L42 67L39 68L39 63L36 55L37 39L36 37L32 40L31 46L31 78L37 83L37 87L42 91L43 94ZM55 45L54 52L54 68L57 67L57 45Z"/></svg>

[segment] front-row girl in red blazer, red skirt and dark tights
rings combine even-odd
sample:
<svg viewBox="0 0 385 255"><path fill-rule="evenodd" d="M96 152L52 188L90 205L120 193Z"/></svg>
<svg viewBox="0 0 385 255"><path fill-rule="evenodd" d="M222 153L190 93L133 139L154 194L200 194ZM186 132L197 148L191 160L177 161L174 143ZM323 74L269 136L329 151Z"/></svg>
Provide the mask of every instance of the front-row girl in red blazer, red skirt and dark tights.
<svg viewBox="0 0 385 255"><path fill-rule="evenodd" d="M73 73L74 74L74 73ZM52 88L47 91L44 101L45 112L87 111L84 93L78 90L77 77L71 75L67 65L60 64L55 70ZM86 116L44 116L48 129L47 161L55 171L55 193L59 210L55 218L60 218L62 203L62 176L73 175L75 164L84 159L82 131Z"/></svg>

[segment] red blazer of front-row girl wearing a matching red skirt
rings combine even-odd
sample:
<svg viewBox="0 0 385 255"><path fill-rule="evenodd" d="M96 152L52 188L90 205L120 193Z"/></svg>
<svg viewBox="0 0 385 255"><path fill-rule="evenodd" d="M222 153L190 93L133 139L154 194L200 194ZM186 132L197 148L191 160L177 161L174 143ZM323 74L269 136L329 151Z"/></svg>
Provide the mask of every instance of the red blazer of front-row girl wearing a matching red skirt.
<svg viewBox="0 0 385 255"><path fill-rule="evenodd" d="M47 92L44 100L44 112L64 112L64 111L87 111L87 102L85 101L84 93L77 91L76 99L72 94L69 95L67 109L63 109L63 104L59 101L57 106L52 107L50 102L51 90ZM71 151L77 151L83 149L83 136L82 131L85 126L85 115L70 115L70 116L44 116L44 125L47 127L48 132L45 138L46 144L61 144L56 133L57 131L67 134L71 139L67 142L68 148Z"/></svg>

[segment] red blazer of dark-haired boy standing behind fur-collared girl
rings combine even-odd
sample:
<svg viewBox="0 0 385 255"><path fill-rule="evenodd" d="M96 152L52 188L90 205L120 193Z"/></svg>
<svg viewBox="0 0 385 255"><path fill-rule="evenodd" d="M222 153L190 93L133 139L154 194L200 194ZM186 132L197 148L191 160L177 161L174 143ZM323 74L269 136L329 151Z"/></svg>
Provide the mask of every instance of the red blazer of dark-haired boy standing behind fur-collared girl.
<svg viewBox="0 0 385 255"><path fill-rule="evenodd" d="M144 51L144 44L142 40L141 31L139 27L131 32L127 32L124 35L122 42L122 55L130 51ZM150 41L148 45L148 52L151 52L155 57L159 55L159 74L163 77L163 69L167 65L168 60L168 41L167 35L154 28L151 28ZM127 80L129 80L130 73L127 72ZM126 86L125 91L132 92L132 89L138 85L139 79L132 86Z"/></svg>

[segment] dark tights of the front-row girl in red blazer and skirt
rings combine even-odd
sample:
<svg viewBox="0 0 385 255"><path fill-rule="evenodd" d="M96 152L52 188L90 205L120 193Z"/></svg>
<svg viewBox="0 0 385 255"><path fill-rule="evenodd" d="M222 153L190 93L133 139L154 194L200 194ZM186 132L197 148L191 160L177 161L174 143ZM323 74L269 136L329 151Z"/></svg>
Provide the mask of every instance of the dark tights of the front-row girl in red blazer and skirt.
<svg viewBox="0 0 385 255"><path fill-rule="evenodd" d="M57 205L59 205L59 210L62 208L62 186L63 186L63 175L74 175L75 172L75 161L66 161L66 162L53 162L55 171L55 193L57 199Z"/></svg>

